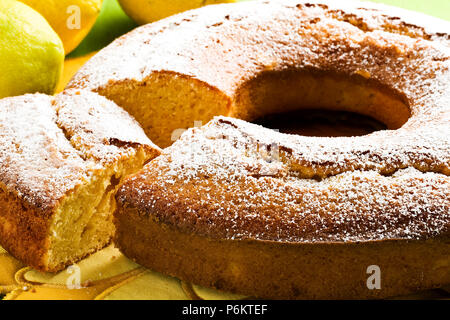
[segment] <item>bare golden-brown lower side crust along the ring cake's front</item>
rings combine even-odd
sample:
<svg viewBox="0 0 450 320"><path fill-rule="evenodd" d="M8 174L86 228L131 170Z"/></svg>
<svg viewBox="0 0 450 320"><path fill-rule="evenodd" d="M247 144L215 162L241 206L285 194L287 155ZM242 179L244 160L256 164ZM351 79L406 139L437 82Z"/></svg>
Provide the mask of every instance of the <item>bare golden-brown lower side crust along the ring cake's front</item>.
<svg viewBox="0 0 450 320"><path fill-rule="evenodd" d="M269 299L381 299L450 282L450 239L363 243L219 240L184 233L133 209L116 212L115 243L152 270ZM381 288L369 289L380 267ZM369 279L369 283L372 283Z"/></svg>

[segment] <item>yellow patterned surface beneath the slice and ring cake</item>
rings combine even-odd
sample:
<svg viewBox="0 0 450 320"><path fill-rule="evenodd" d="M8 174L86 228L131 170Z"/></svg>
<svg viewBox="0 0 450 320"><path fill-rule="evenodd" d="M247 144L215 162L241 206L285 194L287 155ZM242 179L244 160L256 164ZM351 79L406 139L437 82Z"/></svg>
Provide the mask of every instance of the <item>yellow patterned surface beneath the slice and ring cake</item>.
<svg viewBox="0 0 450 320"><path fill-rule="evenodd" d="M56 274L41 273L0 247L0 295L7 300L237 300L137 265L109 246ZM447 299L450 288L397 299Z"/></svg>

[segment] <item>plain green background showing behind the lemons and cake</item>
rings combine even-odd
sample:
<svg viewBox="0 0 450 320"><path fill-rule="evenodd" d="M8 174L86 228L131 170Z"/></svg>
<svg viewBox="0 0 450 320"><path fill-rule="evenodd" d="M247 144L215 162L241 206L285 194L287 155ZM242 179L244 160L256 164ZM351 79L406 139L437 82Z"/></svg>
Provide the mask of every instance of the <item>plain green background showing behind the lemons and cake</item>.
<svg viewBox="0 0 450 320"><path fill-rule="evenodd" d="M188 1L188 0L186 0ZM342 0L335 0L342 1ZM450 20L450 0L371 0ZM94 27L69 58L99 50L118 36L137 25L122 11L117 0L104 0L102 11Z"/></svg>

